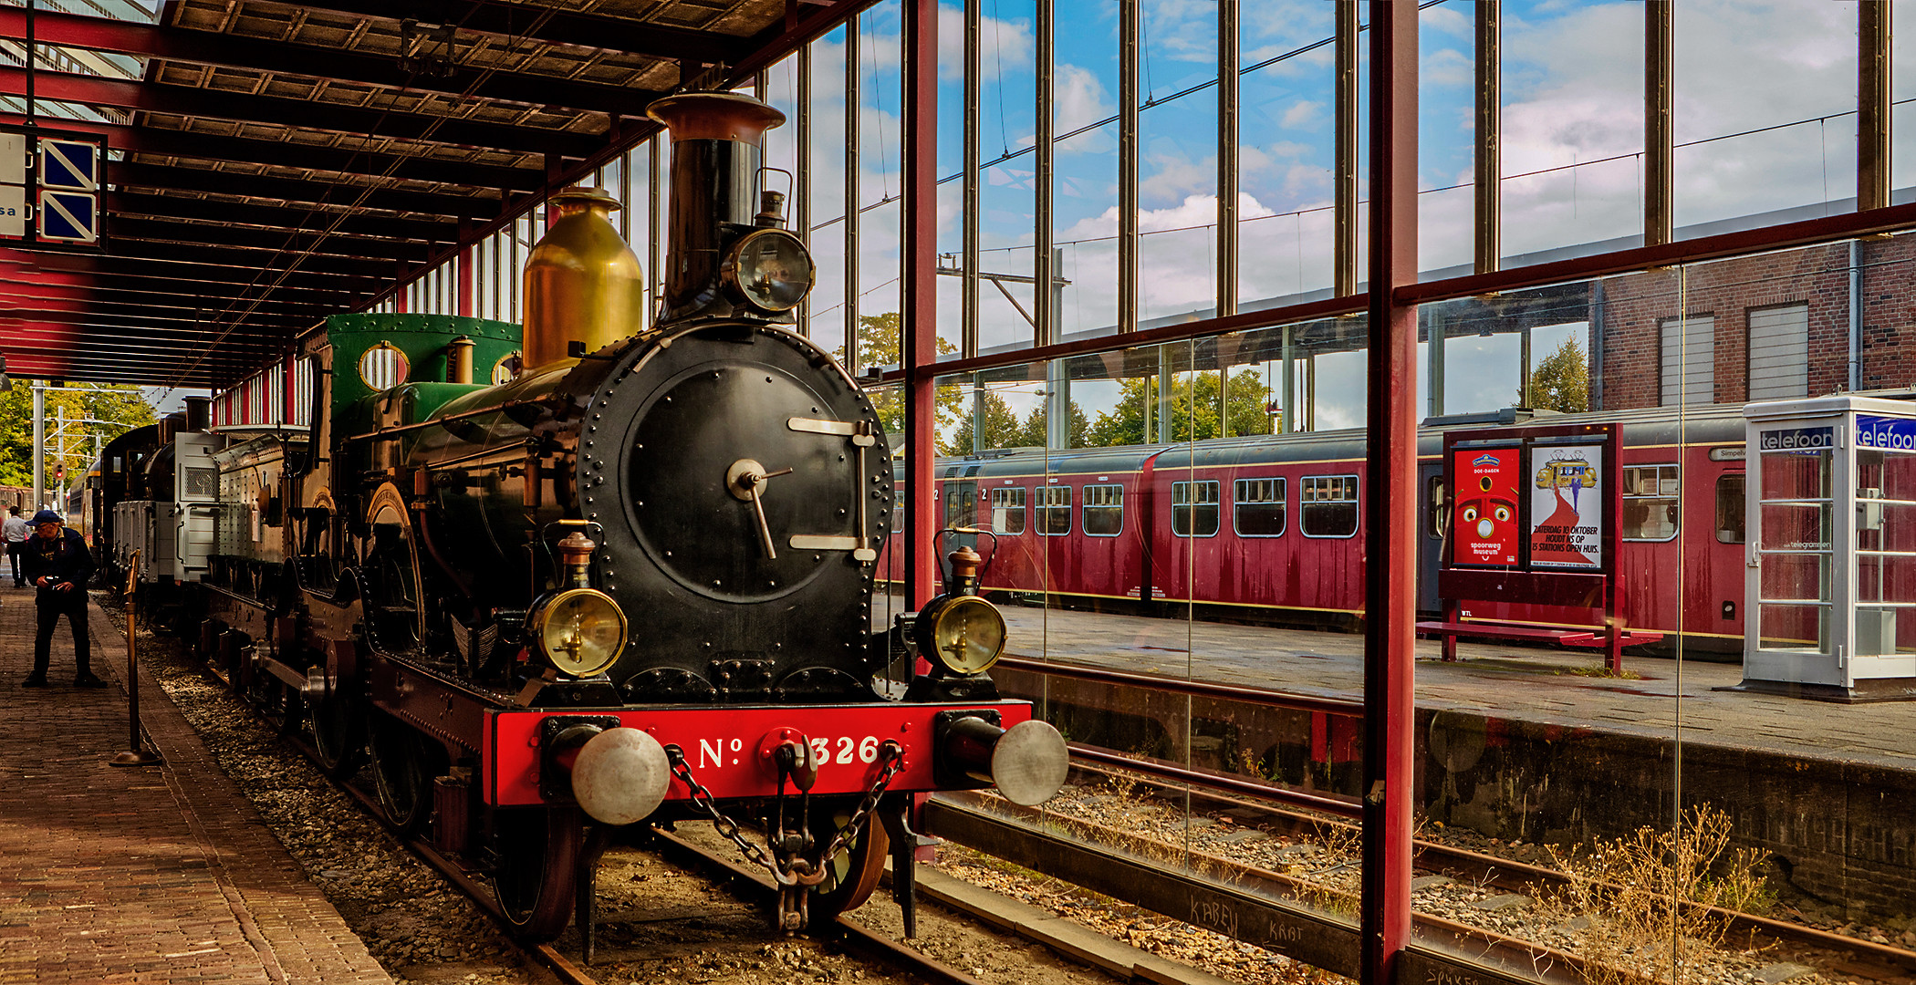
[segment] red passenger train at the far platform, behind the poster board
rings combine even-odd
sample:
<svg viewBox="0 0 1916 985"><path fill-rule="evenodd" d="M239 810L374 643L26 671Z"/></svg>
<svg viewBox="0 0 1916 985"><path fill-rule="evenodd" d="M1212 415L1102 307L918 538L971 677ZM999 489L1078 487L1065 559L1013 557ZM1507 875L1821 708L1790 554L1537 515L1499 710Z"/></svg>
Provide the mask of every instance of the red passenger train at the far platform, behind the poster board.
<svg viewBox="0 0 1916 985"><path fill-rule="evenodd" d="M1529 414L1504 412L1521 425ZM1535 418L1540 424L1544 418ZM1621 424L1623 617L1692 652L1738 653L1744 634L1744 416L1740 406L1550 416ZM1443 429L1420 439L1420 598L1448 510ZM1257 435L1192 445L1044 452L1012 448L939 464L947 525L996 537L985 588L1117 611L1351 627L1362 613L1362 431ZM981 550L991 548L991 538ZM891 552L887 569L899 577ZM1676 579L1680 577L1680 590ZM1176 606L1173 611L1169 606ZM1577 623L1583 613L1479 604L1473 617Z"/></svg>

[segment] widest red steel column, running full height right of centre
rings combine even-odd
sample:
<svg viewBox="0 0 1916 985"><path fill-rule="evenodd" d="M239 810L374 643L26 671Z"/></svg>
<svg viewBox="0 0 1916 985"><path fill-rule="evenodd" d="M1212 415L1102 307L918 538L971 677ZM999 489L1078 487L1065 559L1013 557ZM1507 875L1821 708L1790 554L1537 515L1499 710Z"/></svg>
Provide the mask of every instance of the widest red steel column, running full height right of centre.
<svg viewBox="0 0 1916 985"><path fill-rule="evenodd" d="M1418 6L1370 8L1370 523L1364 531L1362 981L1397 981L1410 941L1416 770Z"/></svg>

